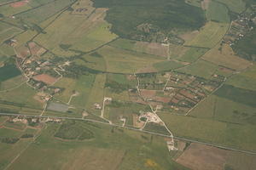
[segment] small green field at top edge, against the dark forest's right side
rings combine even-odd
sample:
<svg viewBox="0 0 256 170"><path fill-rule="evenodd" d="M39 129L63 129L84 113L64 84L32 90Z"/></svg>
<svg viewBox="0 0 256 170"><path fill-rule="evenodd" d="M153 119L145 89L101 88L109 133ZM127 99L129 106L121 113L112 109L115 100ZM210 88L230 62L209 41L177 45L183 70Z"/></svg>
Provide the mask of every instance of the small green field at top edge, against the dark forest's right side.
<svg viewBox="0 0 256 170"><path fill-rule="evenodd" d="M218 13L216 12L217 10ZM211 1L211 3L209 3L209 7L207 8L207 20L229 23L229 9L223 3Z"/></svg>

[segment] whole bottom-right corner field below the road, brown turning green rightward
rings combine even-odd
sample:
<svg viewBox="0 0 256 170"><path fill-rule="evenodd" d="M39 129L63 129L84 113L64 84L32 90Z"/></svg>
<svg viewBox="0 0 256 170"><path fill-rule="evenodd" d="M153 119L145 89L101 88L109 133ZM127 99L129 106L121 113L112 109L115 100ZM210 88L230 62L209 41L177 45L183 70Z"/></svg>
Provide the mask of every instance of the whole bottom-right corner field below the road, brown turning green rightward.
<svg viewBox="0 0 256 170"><path fill-rule="evenodd" d="M203 170L253 170L255 156L234 151L220 150L202 144L190 144L189 148L177 158L177 162L192 169ZM199 161L198 161L199 160Z"/></svg>

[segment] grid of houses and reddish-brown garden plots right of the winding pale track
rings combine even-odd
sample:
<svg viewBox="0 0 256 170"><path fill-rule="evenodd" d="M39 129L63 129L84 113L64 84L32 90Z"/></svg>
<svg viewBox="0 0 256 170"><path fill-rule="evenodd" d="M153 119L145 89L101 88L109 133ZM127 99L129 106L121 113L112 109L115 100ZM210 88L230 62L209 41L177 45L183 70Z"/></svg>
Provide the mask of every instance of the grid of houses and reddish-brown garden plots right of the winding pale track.
<svg viewBox="0 0 256 170"><path fill-rule="evenodd" d="M204 80L194 76L180 78L177 73L172 74L170 86L166 86L165 94L172 97L168 103L175 111L187 112L197 103L212 93L224 81L224 77L219 75L212 76L214 80Z"/></svg>

